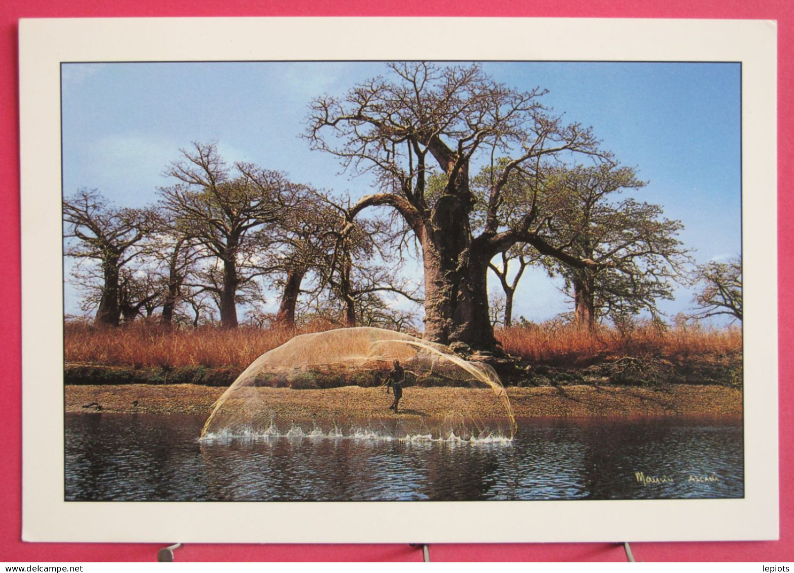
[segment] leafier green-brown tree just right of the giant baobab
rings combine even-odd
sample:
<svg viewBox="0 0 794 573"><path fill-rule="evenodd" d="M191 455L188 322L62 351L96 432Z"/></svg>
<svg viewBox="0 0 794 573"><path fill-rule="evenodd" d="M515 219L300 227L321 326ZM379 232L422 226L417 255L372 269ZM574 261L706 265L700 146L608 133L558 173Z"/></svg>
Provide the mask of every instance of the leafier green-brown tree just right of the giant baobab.
<svg viewBox="0 0 794 573"><path fill-rule="evenodd" d="M595 265L576 267L551 260L565 278L578 327L594 330L599 319L622 319L647 311L659 319L658 300L673 298L674 282L687 280L684 228L656 204L624 197L641 189L633 169L616 165L547 170L544 193L547 230L570 253ZM548 262L547 262L548 264Z"/></svg>

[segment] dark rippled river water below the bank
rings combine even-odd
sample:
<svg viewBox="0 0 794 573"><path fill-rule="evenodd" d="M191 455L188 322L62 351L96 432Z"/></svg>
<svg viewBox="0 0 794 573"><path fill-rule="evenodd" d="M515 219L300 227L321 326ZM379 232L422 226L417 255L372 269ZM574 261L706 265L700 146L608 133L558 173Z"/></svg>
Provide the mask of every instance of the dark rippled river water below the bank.
<svg viewBox="0 0 794 573"><path fill-rule="evenodd" d="M738 418L525 418L507 443L198 441L203 418L67 414L67 500L741 498Z"/></svg>

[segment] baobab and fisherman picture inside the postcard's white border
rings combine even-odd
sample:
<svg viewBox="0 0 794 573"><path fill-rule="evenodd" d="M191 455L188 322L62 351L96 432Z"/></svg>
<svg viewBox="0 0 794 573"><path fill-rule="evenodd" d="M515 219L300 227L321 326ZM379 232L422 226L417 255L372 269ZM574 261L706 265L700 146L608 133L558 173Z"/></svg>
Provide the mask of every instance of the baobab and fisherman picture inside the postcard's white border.
<svg viewBox="0 0 794 573"><path fill-rule="evenodd" d="M61 63L64 500L742 499L742 64Z"/></svg>

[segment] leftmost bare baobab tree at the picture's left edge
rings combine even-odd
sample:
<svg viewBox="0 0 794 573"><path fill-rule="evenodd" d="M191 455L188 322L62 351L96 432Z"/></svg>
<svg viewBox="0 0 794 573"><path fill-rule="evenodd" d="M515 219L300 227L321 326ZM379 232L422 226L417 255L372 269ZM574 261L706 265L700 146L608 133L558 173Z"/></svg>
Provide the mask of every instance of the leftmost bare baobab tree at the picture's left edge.
<svg viewBox="0 0 794 573"><path fill-rule="evenodd" d="M79 189L65 198L63 216L64 254L99 266L95 323L118 327L121 269L141 255L155 217L148 209L115 208L96 189Z"/></svg>

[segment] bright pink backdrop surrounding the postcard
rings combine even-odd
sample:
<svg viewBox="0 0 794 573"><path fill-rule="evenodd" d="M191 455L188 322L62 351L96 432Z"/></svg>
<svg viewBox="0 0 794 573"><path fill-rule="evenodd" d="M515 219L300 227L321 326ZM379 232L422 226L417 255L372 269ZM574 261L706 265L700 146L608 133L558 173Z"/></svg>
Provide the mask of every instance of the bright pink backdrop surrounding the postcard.
<svg viewBox="0 0 794 573"><path fill-rule="evenodd" d="M748 18L778 22L778 252L780 289L781 541L633 544L642 561L794 561L794 2L790 0L4 0L0 2L0 561L151 561L156 544L28 544L21 531L21 346L19 286L19 120L17 19L21 17L180 16L480 16ZM660 4L663 6L654 6ZM417 540L420 541L420 540ZM626 540L631 541L631 540ZM434 561L625 560L617 544L439 544ZM176 552L180 561L417 561L408 545L218 545L193 544Z"/></svg>

